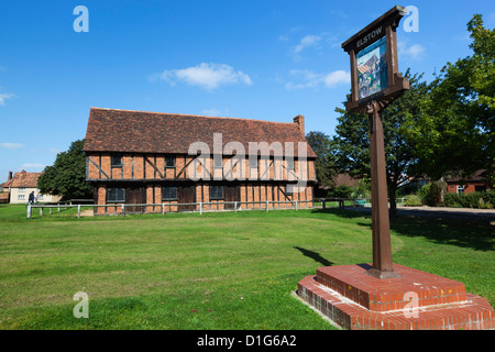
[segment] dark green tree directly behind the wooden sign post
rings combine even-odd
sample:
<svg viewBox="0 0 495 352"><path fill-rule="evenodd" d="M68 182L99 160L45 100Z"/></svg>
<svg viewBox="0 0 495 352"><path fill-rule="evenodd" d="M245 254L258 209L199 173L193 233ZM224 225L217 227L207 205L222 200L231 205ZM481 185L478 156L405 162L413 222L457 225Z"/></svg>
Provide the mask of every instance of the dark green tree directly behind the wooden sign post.
<svg viewBox="0 0 495 352"><path fill-rule="evenodd" d="M420 117L421 101L428 94L428 85L421 81L422 75L411 76L409 69L405 74L409 78L410 89L391 102L382 112L385 140L385 160L387 173L391 215L396 216L396 191L409 182L410 176L419 173L417 153L410 135L406 139L406 120ZM369 117L362 113L336 109L341 116L336 129L333 143L336 146L337 166L356 178L370 177L370 134Z"/></svg>

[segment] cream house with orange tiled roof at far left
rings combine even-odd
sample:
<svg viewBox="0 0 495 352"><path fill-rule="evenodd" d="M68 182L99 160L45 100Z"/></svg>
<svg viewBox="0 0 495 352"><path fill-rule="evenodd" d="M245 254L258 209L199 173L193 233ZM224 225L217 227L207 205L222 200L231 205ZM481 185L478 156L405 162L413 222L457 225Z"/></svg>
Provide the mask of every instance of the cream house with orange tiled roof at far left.
<svg viewBox="0 0 495 352"><path fill-rule="evenodd" d="M57 202L61 200L58 196L42 195L37 189L37 179L43 173L26 173L23 169L20 173L15 173L12 178L9 173L8 184L10 194L10 204L26 204L30 198L30 194L34 191L36 202ZM4 187L6 187L6 184ZM6 190L6 189L4 189Z"/></svg>

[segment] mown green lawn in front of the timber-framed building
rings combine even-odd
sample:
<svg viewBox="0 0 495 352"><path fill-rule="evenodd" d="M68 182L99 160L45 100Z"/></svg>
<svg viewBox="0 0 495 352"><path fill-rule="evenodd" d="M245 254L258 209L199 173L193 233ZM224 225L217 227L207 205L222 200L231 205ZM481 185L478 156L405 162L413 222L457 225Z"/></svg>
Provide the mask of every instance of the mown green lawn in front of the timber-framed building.
<svg viewBox="0 0 495 352"><path fill-rule="evenodd" d="M319 266L372 256L371 219L353 211L62 213L0 206L0 329L333 329L290 293ZM494 230L400 218L394 262L494 306ZM81 290L88 319L73 316Z"/></svg>

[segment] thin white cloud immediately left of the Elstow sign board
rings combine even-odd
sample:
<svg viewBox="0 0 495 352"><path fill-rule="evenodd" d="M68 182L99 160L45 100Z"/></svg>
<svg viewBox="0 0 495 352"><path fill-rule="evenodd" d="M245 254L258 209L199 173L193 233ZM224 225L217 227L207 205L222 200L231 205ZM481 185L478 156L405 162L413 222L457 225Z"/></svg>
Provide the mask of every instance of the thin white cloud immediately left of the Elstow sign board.
<svg viewBox="0 0 495 352"><path fill-rule="evenodd" d="M351 82L351 74L345 70L334 70L330 74L316 74L308 69L293 69L289 72L293 81L286 82L287 90L316 88L324 86L333 88L340 84Z"/></svg>

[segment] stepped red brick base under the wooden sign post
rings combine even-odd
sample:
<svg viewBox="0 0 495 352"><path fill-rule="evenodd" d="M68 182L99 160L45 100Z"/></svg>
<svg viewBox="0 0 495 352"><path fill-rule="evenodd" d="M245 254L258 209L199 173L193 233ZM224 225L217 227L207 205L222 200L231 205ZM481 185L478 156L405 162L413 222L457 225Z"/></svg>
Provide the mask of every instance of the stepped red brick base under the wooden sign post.
<svg viewBox="0 0 495 352"><path fill-rule="evenodd" d="M490 302L464 284L394 264L399 277L375 278L370 264L328 266L298 283L298 296L350 330L495 329Z"/></svg>

